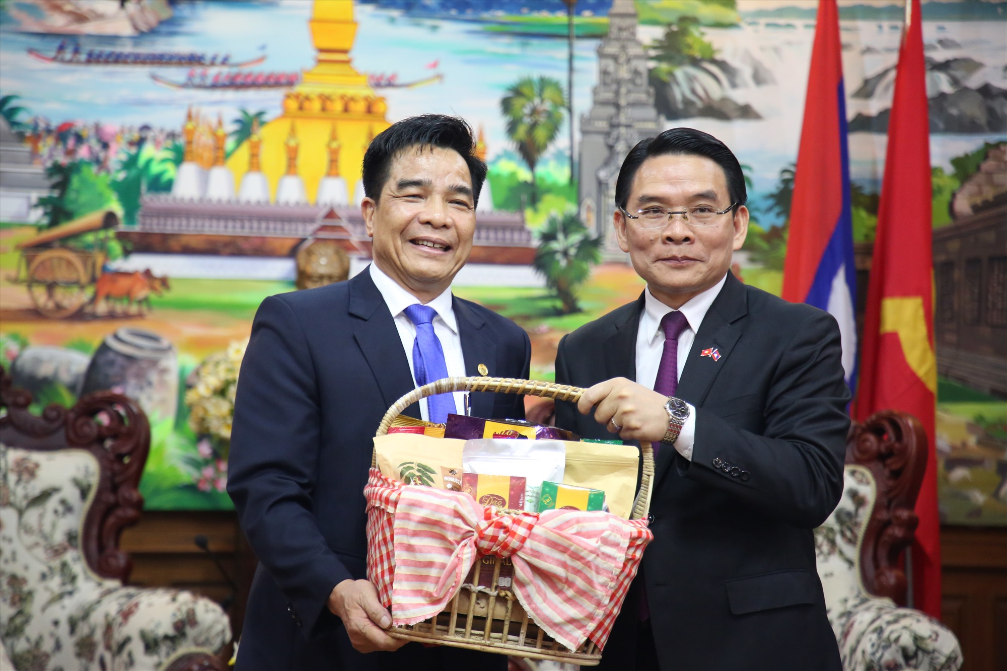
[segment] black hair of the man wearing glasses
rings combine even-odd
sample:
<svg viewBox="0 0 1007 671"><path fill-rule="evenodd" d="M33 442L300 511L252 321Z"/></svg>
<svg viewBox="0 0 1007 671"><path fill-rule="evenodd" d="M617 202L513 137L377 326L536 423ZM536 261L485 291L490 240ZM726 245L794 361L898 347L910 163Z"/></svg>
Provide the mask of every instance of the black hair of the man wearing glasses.
<svg viewBox="0 0 1007 671"><path fill-rule="evenodd" d="M615 205L623 210L629 202L632 180L636 170L648 158L665 154L704 156L724 170L727 179L727 193L735 207L743 206L748 199L745 190L745 175L737 157L727 145L714 136L695 128L669 128L658 137L649 137L636 143L619 168L615 182Z"/></svg>

